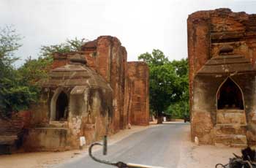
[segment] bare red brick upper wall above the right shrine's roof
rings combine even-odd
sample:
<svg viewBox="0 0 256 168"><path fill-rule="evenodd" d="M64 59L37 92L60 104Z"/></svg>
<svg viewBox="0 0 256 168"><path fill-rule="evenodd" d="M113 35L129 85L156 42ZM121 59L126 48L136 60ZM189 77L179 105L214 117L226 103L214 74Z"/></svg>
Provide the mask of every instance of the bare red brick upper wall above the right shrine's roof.
<svg viewBox="0 0 256 168"><path fill-rule="evenodd" d="M189 82L219 48L228 43L234 53L246 56L255 64L256 15L232 12L230 9L199 11L187 19Z"/></svg>

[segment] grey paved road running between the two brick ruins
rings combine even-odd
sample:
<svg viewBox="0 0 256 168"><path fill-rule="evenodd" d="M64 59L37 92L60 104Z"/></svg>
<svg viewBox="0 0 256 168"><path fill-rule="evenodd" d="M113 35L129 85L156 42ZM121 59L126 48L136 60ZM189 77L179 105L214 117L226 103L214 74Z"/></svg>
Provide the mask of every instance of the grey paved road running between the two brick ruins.
<svg viewBox="0 0 256 168"><path fill-rule="evenodd" d="M147 164L155 167L177 167L181 140L188 123L165 123L151 126L108 146L108 156L102 156L102 150L94 153L100 159L124 161L135 164ZM58 168L107 168L105 164L93 161L89 156L74 159Z"/></svg>

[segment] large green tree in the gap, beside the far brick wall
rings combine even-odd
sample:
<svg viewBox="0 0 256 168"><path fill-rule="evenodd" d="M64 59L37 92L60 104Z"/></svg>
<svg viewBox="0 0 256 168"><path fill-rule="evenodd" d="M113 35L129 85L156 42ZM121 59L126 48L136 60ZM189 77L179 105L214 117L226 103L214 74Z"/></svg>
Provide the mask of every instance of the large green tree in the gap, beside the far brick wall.
<svg viewBox="0 0 256 168"><path fill-rule="evenodd" d="M181 99L183 80L178 77L176 66L168 61L161 50L143 53L138 59L148 63L150 108L156 112L157 123L162 123L162 115L167 107Z"/></svg>

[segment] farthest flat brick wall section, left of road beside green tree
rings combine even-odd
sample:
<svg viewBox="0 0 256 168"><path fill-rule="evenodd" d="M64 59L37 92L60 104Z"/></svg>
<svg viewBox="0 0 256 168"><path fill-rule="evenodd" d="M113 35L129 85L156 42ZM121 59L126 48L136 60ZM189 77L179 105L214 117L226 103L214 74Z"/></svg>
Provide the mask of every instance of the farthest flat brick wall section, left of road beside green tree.
<svg viewBox="0 0 256 168"><path fill-rule="evenodd" d="M144 62L128 62L127 113L129 122L146 126L149 123L149 69Z"/></svg>

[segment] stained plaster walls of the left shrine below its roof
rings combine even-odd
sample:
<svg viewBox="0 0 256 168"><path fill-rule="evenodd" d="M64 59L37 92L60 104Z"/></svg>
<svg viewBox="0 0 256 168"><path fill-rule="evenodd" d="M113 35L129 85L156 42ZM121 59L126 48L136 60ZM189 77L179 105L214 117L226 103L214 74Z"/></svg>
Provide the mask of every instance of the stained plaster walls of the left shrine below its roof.
<svg viewBox="0 0 256 168"><path fill-rule="evenodd" d="M38 150L69 150L79 148L79 137L86 137L86 144L102 139L107 133L107 127L112 122L112 98L104 88L87 88L82 99L74 100L70 91L72 88L62 88L69 97L69 115L67 121L50 121L50 101L58 88L48 88L43 93L39 104L34 104L29 131L24 138L23 147L27 151ZM46 96L49 95L49 96ZM89 99L88 99L89 98ZM75 111L79 101L84 108ZM42 107L42 109L41 109ZM33 143L31 143L33 142Z"/></svg>

